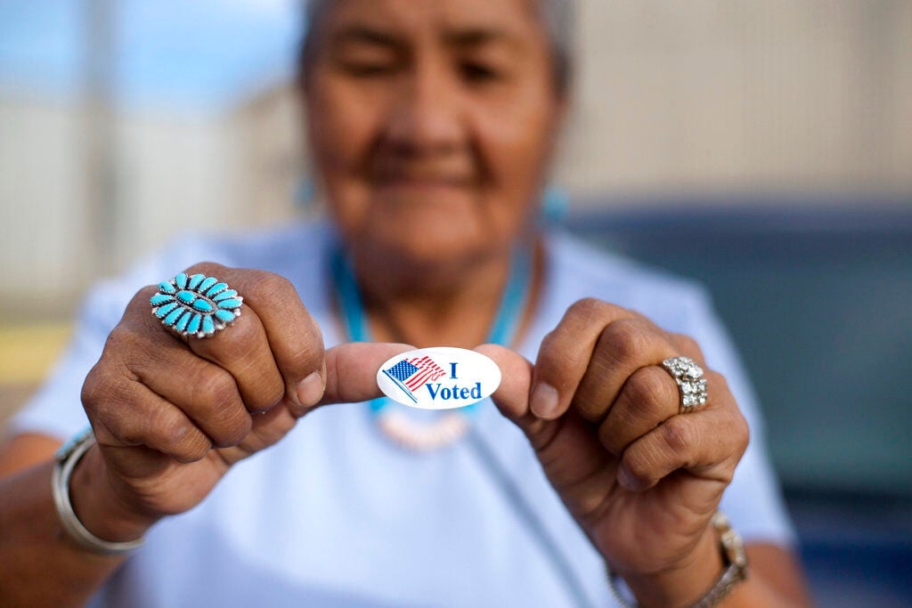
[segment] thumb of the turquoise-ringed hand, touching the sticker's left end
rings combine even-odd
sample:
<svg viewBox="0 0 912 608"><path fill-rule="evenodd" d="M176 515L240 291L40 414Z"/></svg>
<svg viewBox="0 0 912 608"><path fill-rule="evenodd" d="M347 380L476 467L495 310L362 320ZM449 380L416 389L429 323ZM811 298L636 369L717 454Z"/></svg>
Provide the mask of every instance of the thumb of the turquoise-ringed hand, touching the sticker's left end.
<svg viewBox="0 0 912 608"><path fill-rule="evenodd" d="M380 397L377 371L387 359L414 346L385 342L352 342L326 351L326 388L317 406L358 403Z"/></svg>

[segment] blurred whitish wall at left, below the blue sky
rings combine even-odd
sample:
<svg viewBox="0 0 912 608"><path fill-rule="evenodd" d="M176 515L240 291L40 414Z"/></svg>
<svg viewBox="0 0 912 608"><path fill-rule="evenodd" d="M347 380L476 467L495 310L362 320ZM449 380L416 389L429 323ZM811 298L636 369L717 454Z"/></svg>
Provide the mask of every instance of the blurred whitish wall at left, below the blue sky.
<svg viewBox="0 0 912 608"><path fill-rule="evenodd" d="M74 105L0 103L0 313L66 315L89 281L173 234L254 216L234 196L233 132L222 116L123 115L113 129L113 234L99 240L85 129Z"/></svg>

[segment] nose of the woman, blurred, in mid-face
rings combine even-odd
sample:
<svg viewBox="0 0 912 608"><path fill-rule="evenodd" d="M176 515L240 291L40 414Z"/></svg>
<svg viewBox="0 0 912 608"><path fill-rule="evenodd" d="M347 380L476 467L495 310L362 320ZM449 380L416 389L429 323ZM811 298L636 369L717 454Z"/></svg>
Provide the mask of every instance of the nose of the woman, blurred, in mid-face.
<svg viewBox="0 0 912 608"><path fill-rule="evenodd" d="M422 154L458 149L465 127L451 77L440 67L419 65L403 80L389 114L389 143Z"/></svg>

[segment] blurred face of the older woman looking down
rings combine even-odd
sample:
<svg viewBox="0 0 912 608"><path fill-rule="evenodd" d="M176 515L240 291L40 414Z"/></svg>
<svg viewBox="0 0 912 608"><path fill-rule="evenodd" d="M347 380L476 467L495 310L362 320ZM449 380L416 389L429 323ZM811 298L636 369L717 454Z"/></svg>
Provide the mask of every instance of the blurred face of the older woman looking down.
<svg viewBox="0 0 912 608"><path fill-rule="evenodd" d="M347 242L407 263L503 252L562 113L534 0L337 0L306 73L316 174Z"/></svg>

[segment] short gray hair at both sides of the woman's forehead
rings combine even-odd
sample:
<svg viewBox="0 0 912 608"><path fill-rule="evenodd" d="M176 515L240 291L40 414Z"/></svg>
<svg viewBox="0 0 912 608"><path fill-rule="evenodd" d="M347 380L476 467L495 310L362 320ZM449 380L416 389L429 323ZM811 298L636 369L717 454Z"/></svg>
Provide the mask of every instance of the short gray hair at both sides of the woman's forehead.
<svg viewBox="0 0 912 608"><path fill-rule="evenodd" d="M312 25L322 21L333 0L305 0L306 26L298 57L299 71L306 72L308 57L313 57L316 36ZM554 83L558 92L565 93L570 86L574 58L574 5L575 0L535 0L544 23L545 34L554 56Z"/></svg>

